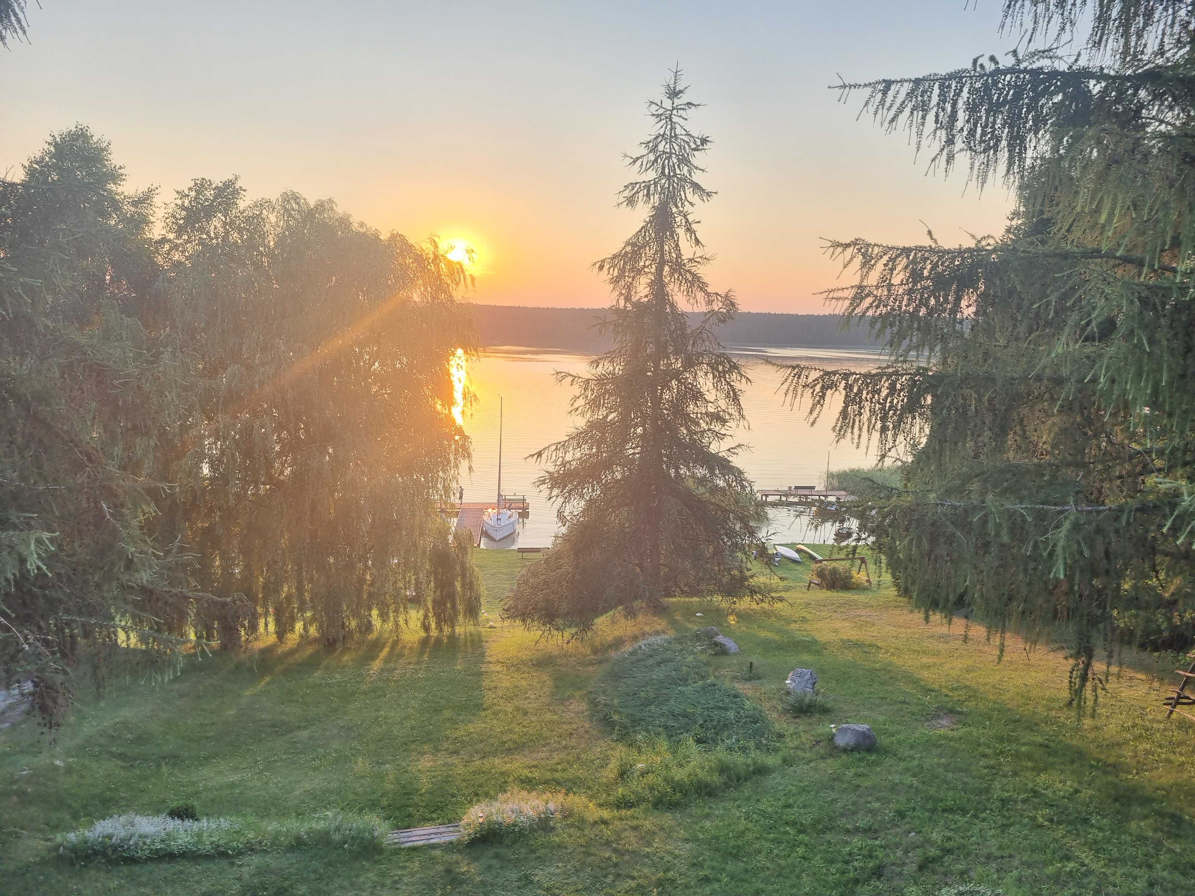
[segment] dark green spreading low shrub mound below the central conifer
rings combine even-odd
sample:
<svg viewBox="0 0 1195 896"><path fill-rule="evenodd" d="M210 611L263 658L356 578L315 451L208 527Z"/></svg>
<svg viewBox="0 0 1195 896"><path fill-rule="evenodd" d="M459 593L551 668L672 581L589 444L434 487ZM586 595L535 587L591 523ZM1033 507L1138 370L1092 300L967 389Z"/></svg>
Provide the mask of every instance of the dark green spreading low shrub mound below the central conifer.
<svg viewBox="0 0 1195 896"><path fill-rule="evenodd" d="M739 688L710 679L691 646L651 638L611 661L592 702L620 739L663 737L731 750L768 749L776 729L764 707Z"/></svg>

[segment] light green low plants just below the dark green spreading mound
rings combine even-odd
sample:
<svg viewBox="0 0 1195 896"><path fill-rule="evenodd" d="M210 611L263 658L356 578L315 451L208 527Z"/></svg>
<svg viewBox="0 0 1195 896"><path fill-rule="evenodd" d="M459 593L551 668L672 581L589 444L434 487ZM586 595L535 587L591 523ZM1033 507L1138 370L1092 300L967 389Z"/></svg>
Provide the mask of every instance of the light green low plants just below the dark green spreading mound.
<svg viewBox="0 0 1195 896"><path fill-rule="evenodd" d="M663 738L620 748L607 768L609 802L619 809L670 806L693 796L710 796L762 772L772 759L762 753L700 749L691 738Z"/></svg>

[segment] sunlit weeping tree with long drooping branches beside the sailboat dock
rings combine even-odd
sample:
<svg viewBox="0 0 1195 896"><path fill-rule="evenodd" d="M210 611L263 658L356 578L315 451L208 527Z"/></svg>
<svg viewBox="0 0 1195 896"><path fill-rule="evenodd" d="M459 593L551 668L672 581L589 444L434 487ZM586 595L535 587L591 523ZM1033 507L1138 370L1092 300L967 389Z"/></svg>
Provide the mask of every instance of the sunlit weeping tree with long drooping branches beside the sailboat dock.
<svg viewBox="0 0 1195 896"><path fill-rule="evenodd" d="M468 552L435 511L467 460L448 375L471 340L461 265L331 202L246 204L235 180L195 182L165 222L155 300L194 388L164 446L178 489L161 534L202 558L206 590L252 608L204 634L339 644L411 609L425 631L477 621Z"/></svg>

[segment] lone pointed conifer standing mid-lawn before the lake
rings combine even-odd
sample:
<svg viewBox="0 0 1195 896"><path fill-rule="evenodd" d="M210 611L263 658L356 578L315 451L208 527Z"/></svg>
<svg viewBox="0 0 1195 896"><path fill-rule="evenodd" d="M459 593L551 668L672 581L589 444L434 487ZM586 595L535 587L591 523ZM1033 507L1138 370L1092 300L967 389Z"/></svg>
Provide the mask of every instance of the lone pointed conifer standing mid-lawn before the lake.
<svg viewBox="0 0 1195 896"><path fill-rule="evenodd" d="M546 632L583 634L614 608L655 609L675 595L766 600L748 557L758 545L752 485L727 446L742 419L747 378L712 327L735 312L710 289L710 262L692 210L713 194L697 182L710 139L688 128L698 104L680 70L648 104L652 134L629 160L641 179L623 208L643 223L595 268L614 296L602 326L614 348L588 375L558 374L576 389L583 423L538 454L539 479L564 526L551 553L515 583L505 614ZM701 312L695 325L682 305Z"/></svg>

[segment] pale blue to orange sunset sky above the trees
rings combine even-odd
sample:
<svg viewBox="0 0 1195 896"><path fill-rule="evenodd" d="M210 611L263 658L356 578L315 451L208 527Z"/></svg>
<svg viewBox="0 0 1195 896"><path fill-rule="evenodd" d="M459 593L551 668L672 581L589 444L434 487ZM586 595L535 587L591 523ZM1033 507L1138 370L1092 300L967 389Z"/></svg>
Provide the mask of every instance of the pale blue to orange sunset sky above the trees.
<svg viewBox="0 0 1195 896"><path fill-rule="evenodd" d="M638 225L623 153L679 63L713 137L698 217L744 311L825 312L826 238L999 232L1000 186L927 174L827 86L946 70L1016 43L999 0L407 2L41 0L0 50L0 172L88 124L160 197L238 174L412 239L476 247L470 297L595 307L589 265ZM924 223L923 223L924 222Z"/></svg>

